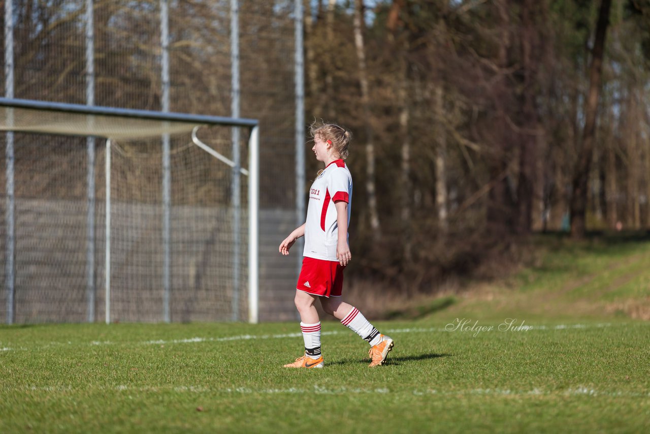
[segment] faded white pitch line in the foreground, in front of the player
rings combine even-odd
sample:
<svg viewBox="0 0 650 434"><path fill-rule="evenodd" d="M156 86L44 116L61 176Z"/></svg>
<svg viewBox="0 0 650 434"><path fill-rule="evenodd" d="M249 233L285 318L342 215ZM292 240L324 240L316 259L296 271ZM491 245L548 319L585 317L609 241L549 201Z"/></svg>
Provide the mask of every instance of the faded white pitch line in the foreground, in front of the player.
<svg viewBox="0 0 650 434"><path fill-rule="evenodd" d="M6 388L16 392L38 390L45 392L72 392L75 390L86 390L87 388L76 388L72 386L25 386ZM474 388L461 390L438 390L432 388L413 390L391 390L382 388L359 388L359 387L336 387L328 388L314 385L312 388L252 388L252 387L226 387L213 388L209 386L145 386L134 387L129 385L118 385L114 387L99 387L99 390L116 390L118 392L187 392L187 393L217 393L217 394L242 394L242 395L272 395L272 394L322 394L322 395L347 395L347 394L397 394L414 396L605 396L622 398L650 398L650 392L625 392L620 390L597 390L588 387L567 388L564 390L544 390L543 388L532 388L531 390L512 390L500 388Z"/></svg>

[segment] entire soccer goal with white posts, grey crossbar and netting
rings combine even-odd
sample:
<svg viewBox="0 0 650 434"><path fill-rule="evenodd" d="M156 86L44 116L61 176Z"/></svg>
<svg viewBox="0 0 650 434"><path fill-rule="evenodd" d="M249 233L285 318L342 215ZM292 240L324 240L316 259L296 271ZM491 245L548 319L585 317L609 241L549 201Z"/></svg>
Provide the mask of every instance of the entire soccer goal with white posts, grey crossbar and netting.
<svg viewBox="0 0 650 434"><path fill-rule="evenodd" d="M6 323L257 322L257 120L0 98L0 131Z"/></svg>

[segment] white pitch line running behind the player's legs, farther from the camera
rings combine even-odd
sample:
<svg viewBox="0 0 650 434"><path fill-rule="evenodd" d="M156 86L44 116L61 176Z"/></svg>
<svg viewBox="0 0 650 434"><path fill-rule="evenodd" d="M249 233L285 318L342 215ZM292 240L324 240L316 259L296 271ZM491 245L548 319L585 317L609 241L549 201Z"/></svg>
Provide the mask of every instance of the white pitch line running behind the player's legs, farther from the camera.
<svg viewBox="0 0 650 434"><path fill-rule="evenodd" d="M597 324L558 324L558 325L522 325L521 331L531 331L531 330L566 330L566 329L593 329L601 327L610 327L611 323L597 323ZM444 327L413 327L408 329L387 329L385 330L387 334L394 333L431 333L431 332L451 332ZM342 331L324 331L321 332L321 336L331 336L335 334L349 333L347 330ZM227 342L233 340L258 340L258 339L283 339L283 338L298 338L302 336L302 333L283 333L283 334L240 334L237 336L224 336L221 338L184 338L184 339L173 339L173 340L147 340L144 342L139 342L140 345L165 345L165 344L196 344L200 342ZM49 348L51 346L64 345L66 342L50 342L46 346L40 347L40 349ZM68 345L72 345L72 342L68 341ZM110 342L110 341L92 341L89 345L92 346L104 346L104 345L113 345L120 344L119 342ZM125 344L127 344L125 342ZM28 348L21 347L21 350L27 350ZM13 348L0 348L0 351L14 351Z"/></svg>

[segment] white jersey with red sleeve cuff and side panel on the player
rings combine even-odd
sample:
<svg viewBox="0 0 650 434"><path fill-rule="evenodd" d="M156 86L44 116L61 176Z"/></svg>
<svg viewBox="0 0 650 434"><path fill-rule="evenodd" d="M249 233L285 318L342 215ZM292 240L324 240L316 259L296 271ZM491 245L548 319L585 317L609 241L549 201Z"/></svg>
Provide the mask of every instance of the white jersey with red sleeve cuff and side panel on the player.
<svg viewBox="0 0 650 434"><path fill-rule="evenodd" d="M332 161L309 189L309 206L305 221L305 250L309 258L336 261L339 224L334 202L348 204L348 225L352 203L352 175L342 159Z"/></svg>

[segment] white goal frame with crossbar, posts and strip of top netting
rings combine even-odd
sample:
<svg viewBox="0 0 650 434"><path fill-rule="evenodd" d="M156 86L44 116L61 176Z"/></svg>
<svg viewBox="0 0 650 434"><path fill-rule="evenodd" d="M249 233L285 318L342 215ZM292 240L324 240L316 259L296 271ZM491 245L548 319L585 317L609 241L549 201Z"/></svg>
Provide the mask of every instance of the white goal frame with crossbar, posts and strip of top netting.
<svg viewBox="0 0 650 434"><path fill-rule="evenodd" d="M118 122L116 122L118 121ZM118 107L101 107L17 98L0 98L0 131L12 133L41 133L53 135L70 135L81 137L102 137L107 139L106 164L110 165L110 141L119 139L143 139L161 137L179 133L192 133L194 143L207 150L207 145L195 139L196 128L200 126L230 126L250 129L248 140L248 169L239 168L237 172L248 176L248 321L258 321L258 286L259 286L259 122L248 118L229 118L225 116L193 115L189 113L170 113ZM7 153L9 154L9 142ZM12 148L12 143L11 143ZM211 150L211 148L208 148ZM235 164L211 150L213 157L233 167ZM13 154L13 150L11 150ZM215 155L218 154L218 155ZM13 156L7 156L8 161ZM13 164L7 164L13 169ZM107 186L110 185L110 170L106 170ZM14 174L7 169L7 183L13 185ZM110 188L107 189L107 249L110 249ZM7 208L13 210L13 193L7 195ZM14 234L13 222L9 222L7 254L13 256ZM110 251L107 252L110 258ZM108 259L107 259L108 260ZM8 267L9 268L9 267ZM107 300L107 323L110 322L110 264L107 264L105 291ZM10 277L9 281L12 280ZM7 307L7 319L13 318L10 300L13 300L12 288L6 288L10 297Z"/></svg>

